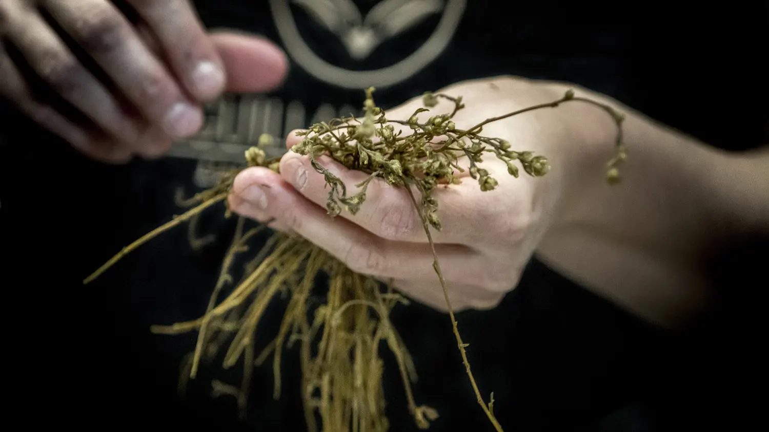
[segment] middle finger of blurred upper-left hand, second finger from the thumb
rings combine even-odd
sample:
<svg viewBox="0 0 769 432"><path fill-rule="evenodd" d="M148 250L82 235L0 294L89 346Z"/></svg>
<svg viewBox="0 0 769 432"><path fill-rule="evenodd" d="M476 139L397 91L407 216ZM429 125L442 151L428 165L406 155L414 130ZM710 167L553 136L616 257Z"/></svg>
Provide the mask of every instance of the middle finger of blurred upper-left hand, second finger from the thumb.
<svg viewBox="0 0 769 432"><path fill-rule="evenodd" d="M175 138L198 132L203 123L201 108L185 96L112 3L47 0L44 4L146 120ZM153 143L145 140L140 146L142 151L153 150Z"/></svg>

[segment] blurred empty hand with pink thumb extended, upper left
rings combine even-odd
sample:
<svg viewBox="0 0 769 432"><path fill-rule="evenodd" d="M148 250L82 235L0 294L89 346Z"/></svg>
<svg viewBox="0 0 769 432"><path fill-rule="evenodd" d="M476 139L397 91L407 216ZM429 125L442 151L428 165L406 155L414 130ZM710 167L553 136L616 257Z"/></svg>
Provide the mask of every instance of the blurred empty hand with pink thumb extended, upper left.
<svg viewBox="0 0 769 432"><path fill-rule="evenodd" d="M88 156L120 163L196 134L201 104L223 91L268 91L286 74L278 47L208 34L188 0L126 2L138 23L110 0L0 0L0 97Z"/></svg>

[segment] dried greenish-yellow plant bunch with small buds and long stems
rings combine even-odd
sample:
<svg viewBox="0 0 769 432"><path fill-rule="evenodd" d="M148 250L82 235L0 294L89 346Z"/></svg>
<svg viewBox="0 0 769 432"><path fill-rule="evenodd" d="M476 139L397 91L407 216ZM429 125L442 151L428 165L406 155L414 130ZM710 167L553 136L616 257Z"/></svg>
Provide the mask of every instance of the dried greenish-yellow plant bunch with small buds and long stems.
<svg viewBox="0 0 769 432"><path fill-rule="evenodd" d="M373 88L366 91L365 115L362 119L348 117L315 124L301 133L301 143L292 149L309 157L315 170L325 177L328 187L326 206L330 216L338 216L343 209L356 213L360 206L365 204L368 184L378 177L392 187L402 187L408 191L421 216L424 234L434 248L431 229L440 230L441 222L436 213L439 203L432 196L432 192L439 184L450 186L451 183L460 181L454 176L454 173L463 171L459 165L460 157L468 158L470 176L478 181L483 191L494 190L497 186L497 180L480 166L483 158L489 154L507 163L511 176L518 177L518 166L530 176L544 176L548 173L550 167L544 156L511 150L511 144L506 140L481 136L484 125L531 110L558 107L568 101L582 101L601 107L616 122L616 154L608 163L606 175L610 183L619 180L618 164L625 159L621 129L623 117L607 105L575 97L572 91L568 91L558 101L489 118L468 130L458 129L452 120L454 115L464 108L461 97L424 94L425 107L416 110L406 120L393 120L385 117L384 110L375 105L373 91ZM438 98L453 102L454 110L451 113L434 115L426 122L420 123L418 114L437 105ZM396 132L394 124L404 125L404 130L410 129L411 134L404 134L403 130ZM269 140L271 137L263 136L260 143L267 143ZM355 185L355 193L349 193L349 185L345 185L318 162L321 155L327 155L345 167L363 171L369 176L367 180ZM276 171L279 169L279 160L267 160L265 152L259 147L251 147L245 153L245 158L250 167L269 167ZM198 193L189 201L190 205L197 205L195 208L123 249L89 276L85 283L91 282L125 254L161 232L194 219L216 203L226 202L238 172L235 170L227 173L218 186ZM225 215L229 216L229 211ZM322 430L384 431L388 429L381 386L384 366L378 353L381 342L384 341L397 360L411 415L418 427L427 428L429 421L437 418L438 413L430 407L418 406L414 401L411 394L411 382L416 378L414 366L408 350L388 318L395 305L408 301L395 293L391 286L383 286L381 282L369 276L352 272L342 262L307 240L280 232L275 232L270 237L265 246L245 266L245 277L237 285L233 285L231 267L235 256L248 251L249 240L263 227L244 232L244 220L238 220L235 239L225 256L221 275L209 299L208 308L201 318L152 328L152 331L169 335L198 331L195 351L189 356L188 368L182 378L195 378L201 361L210 361L222 351L224 368L231 368L243 360L244 370L240 387L219 381L213 383L215 392L237 397L242 414L245 411L248 384L254 365L262 364L269 355L273 355L274 391L275 397L279 397L282 350L285 346L298 342L305 418L310 430L318 430L319 419ZM434 272L444 290L456 343L478 404L495 429L501 431L502 427L494 417L493 393L490 401L485 402L471 372L465 352L468 344L459 334L441 274L441 265L434 249L433 256ZM325 303L313 307L308 298L315 289L318 275L328 278L328 294L325 296ZM227 289L228 285L233 286ZM291 295L280 330L275 340L257 355L253 341L260 318L271 299L280 292L288 292ZM221 297L224 298L220 300Z"/></svg>

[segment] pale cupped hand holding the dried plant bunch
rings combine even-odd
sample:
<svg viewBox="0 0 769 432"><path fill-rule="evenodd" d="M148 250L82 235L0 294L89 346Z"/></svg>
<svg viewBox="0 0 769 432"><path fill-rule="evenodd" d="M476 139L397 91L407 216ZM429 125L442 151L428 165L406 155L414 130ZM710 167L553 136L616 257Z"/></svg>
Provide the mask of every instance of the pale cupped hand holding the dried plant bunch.
<svg viewBox="0 0 769 432"><path fill-rule="evenodd" d="M441 93L463 97L466 108L454 122L457 128L469 129L488 117L558 100L566 88L503 77L456 84ZM388 110L387 117L406 120L417 107L421 98ZM453 107L441 101L421 117L449 113ZM465 174L460 184L434 190L442 229L433 232L433 239L453 308L498 305L517 285L544 232L558 223L561 198L572 175L570 158L578 153L568 149L579 147L583 140L578 128L565 126L573 110L564 104L557 110L531 111L484 126L484 137L500 137L513 150L548 157L551 171L547 175L533 177L521 170L521 176L514 178L504 162L487 156L480 167L498 180L496 189L481 191L478 181ZM288 147L299 140L292 134ZM345 182L350 193L367 177L328 157L319 160ZM369 184L358 213L343 211L331 218L325 209L324 177L311 167L308 157L291 151L281 159L280 174L249 168L235 179L233 190L229 204L235 212L260 221L274 218L275 229L296 232L352 270L383 281L393 279L405 295L446 310L431 246L407 190L376 179Z"/></svg>

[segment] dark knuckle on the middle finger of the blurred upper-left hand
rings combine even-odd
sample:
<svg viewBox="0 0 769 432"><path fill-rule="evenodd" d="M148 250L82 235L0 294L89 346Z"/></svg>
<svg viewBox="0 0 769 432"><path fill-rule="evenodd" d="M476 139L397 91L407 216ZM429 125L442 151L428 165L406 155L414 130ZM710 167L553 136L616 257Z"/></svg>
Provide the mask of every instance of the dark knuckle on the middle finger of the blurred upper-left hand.
<svg viewBox="0 0 769 432"><path fill-rule="evenodd" d="M111 9L98 8L85 12L73 25L75 38L86 51L116 51L125 43L125 28Z"/></svg>

